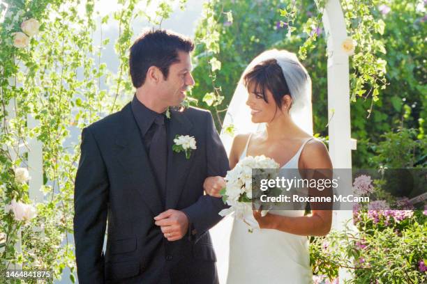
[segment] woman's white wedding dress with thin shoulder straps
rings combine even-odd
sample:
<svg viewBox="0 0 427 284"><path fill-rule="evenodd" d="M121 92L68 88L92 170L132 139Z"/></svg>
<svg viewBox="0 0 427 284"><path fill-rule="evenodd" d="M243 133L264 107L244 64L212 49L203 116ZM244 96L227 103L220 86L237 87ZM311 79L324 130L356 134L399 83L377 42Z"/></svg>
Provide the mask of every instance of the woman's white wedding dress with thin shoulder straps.
<svg viewBox="0 0 427 284"><path fill-rule="evenodd" d="M299 156L309 140L301 145L294 157L282 168L298 168ZM249 141L250 136L240 159L246 157ZM290 178L294 178L294 175ZM275 210L270 213L304 216L304 210ZM270 229L248 232L248 225L244 221L234 219L227 283L313 283L309 258L308 237Z"/></svg>

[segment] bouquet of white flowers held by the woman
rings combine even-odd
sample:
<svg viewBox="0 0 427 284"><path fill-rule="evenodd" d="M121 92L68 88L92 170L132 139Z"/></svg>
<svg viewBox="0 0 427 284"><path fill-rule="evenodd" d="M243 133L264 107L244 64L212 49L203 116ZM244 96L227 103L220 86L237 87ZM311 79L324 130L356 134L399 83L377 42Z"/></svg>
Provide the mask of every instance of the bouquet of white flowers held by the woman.
<svg viewBox="0 0 427 284"><path fill-rule="evenodd" d="M230 205L229 208L219 212L220 216L234 213L234 218L244 221L249 226L249 232L260 228L253 217L252 210L252 201L256 198L252 191L253 168L279 168L279 164L264 155L245 157L231 171L227 172L225 189L220 191L224 203ZM268 175L265 178L271 178L271 171L268 174L266 171L265 175ZM262 216L265 216L267 212L268 210L262 210Z"/></svg>

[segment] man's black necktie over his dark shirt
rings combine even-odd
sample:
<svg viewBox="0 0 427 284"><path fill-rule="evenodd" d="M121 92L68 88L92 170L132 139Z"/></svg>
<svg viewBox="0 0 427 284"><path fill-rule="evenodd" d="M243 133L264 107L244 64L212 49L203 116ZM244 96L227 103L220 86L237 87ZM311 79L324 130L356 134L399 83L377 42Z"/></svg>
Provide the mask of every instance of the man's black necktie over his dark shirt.
<svg viewBox="0 0 427 284"><path fill-rule="evenodd" d="M166 196L166 167L167 167L167 139L165 116L157 116L151 127L156 127L149 148L149 158L153 166L154 175L163 200Z"/></svg>

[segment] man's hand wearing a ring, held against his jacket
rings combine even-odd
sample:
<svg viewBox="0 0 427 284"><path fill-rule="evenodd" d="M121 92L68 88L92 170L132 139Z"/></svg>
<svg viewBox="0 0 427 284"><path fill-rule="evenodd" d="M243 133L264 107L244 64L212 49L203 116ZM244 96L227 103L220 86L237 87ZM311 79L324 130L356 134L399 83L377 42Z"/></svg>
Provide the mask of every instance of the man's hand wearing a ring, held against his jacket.
<svg viewBox="0 0 427 284"><path fill-rule="evenodd" d="M187 215L179 210L167 210L154 217L155 224L160 226L160 229L169 242L174 242L182 239L188 230Z"/></svg>

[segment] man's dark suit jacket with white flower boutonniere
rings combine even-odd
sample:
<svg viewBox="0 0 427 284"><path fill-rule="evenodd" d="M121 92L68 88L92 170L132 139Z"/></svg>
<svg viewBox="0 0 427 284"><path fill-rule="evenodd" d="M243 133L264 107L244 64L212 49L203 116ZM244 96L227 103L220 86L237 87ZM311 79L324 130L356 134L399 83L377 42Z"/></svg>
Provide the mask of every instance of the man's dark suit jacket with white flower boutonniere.
<svg viewBox="0 0 427 284"><path fill-rule="evenodd" d="M209 111L171 111L169 123L166 200L160 200L130 104L83 129L74 217L80 283L218 283L208 230L224 204L204 195L202 184L208 176L225 176L227 155ZM190 159L172 152L176 134L195 137ZM188 216L195 235L167 242L153 217L171 208Z"/></svg>

